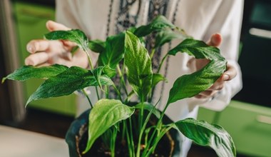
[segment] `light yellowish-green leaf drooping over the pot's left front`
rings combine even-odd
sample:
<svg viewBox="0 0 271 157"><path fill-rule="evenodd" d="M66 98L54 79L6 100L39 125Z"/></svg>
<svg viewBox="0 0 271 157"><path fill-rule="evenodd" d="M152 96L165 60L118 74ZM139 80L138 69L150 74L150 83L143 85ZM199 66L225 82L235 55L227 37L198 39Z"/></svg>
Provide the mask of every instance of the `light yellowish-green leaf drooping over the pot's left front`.
<svg viewBox="0 0 271 157"><path fill-rule="evenodd" d="M132 116L135 108L129 107L114 99L101 99L93 106L89 114L88 143L83 153L89 151L94 141L108 128L119 121Z"/></svg>

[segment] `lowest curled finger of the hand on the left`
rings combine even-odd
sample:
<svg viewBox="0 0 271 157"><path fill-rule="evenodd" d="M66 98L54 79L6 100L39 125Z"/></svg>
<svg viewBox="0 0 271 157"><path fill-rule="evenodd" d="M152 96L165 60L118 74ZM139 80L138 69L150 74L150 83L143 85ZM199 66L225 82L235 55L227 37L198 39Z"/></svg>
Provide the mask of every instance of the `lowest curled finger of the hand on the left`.
<svg viewBox="0 0 271 157"><path fill-rule="evenodd" d="M24 60L24 64L27 66L36 66L39 64L44 64L46 61L48 61L48 54L46 52L39 52L36 54L31 54Z"/></svg>

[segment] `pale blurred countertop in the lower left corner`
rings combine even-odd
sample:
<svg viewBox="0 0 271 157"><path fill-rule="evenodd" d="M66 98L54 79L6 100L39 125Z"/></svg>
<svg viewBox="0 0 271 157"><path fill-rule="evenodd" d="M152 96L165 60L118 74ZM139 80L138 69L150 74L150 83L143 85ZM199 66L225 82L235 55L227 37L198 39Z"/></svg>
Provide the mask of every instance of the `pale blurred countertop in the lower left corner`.
<svg viewBox="0 0 271 157"><path fill-rule="evenodd" d="M0 125L0 156L6 157L68 157L63 138Z"/></svg>

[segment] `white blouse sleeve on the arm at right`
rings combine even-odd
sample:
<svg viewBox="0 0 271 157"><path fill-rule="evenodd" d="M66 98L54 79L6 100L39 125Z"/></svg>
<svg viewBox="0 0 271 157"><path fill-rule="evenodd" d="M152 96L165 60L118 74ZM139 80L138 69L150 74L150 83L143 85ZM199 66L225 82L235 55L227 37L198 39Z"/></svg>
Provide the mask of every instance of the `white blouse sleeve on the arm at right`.
<svg viewBox="0 0 271 157"><path fill-rule="evenodd" d="M242 24L242 0L229 0L222 1L217 13L215 14L210 26L208 26L204 41L208 41L210 36L215 33L220 33L223 37L223 43L219 47L221 54L227 59L227 63L234 66L237 70L237 76L231 81L225 83L224 88L219 91L215 97L208 101L201 101L201 105L205 108L209 108L215 111L223 110L229 103L235 94L242 88L242 74L240 66L237 64L239 56L239 44L240 44L240 29ZM191 98L189 100L190 110L199 104L200 100L197 98Z"/></svg>

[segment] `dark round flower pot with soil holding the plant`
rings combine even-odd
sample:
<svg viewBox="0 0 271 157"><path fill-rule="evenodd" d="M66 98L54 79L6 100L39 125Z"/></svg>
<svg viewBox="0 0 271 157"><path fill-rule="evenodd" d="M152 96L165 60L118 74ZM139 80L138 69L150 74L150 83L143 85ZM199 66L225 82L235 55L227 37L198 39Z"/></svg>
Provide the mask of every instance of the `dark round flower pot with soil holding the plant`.
<svg viewBox="0 0 271 157"><path fill-rule="evenodd" d="M86 154L82 154L83 149L86 147L88 139L88 115L91 109L83 112L81 116L76 118L71 123L68 132L66 133L66 143L68 143L69 154L71 157L83 157L83 156L110 156L110 151L103 149L104 144L101 138L94 143L93 147ZM150 118L153 120L155 116ZM154 118L157 119L157 118ZM163 118L164 123L170 123L170 119L167 116ZM151 125L152 122L150 122ZM116 140L116 156L128 156L127 149L123 146L121 140ZM158 143L155 149L155 155L153 156L178 156L180 154L180 134L175 129L170 129L168 133L163 136L160 143Z"/></svg>

